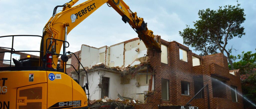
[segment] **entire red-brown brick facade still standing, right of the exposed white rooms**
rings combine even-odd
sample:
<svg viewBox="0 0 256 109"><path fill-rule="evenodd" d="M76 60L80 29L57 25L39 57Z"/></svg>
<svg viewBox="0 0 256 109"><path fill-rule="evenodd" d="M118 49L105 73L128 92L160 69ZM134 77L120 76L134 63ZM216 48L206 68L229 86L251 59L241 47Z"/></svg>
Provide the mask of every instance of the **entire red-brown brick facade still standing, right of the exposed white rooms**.
<svg viewBox="0 0 256 109"><path fill-rule="evenodd" d="M157 36L160 39L160 36ZM160 40L159 43L167 46L168 64L161 63L161 53L148 49L148 62L151 66L150 72L154 73L154 95L149 97L147 104L137 105L136 108L158 108L159 104L185 105L194 97L194 79L203 77L203 84L209 87L209 100L211 109L242 109L242 97L237 95L238 102L232 102L231 90L228 87L216 87L219 91L213 91L211 76L217 76L227 79L225 83L230 86L236 86L237 91L241 93L241 82L239 72L235 75L229 73L227 57L221 53L198 56L192 53L188 47L173 42ZM187 51L188 62L179 59L179 48ZM200 58L200 66L194 66L192 56ZM161 79L169 80L169 100L161 99ZM181 81L189 83L189 96L182 95ZM153 90L153 89L152 89ZM214 96L215 95L215 96ZM194 99L190 102L199 109L208 108L207 90L204 88L204 98Z"/></svg>

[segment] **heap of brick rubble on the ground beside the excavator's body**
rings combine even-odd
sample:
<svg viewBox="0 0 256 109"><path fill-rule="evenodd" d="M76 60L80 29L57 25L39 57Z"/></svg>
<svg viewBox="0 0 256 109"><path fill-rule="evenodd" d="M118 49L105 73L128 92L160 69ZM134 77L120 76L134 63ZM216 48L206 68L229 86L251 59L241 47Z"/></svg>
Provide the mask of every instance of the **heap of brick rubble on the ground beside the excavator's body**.
<svg viewBox="0 0 256 109"><path fill-rule="evenodd" d="M140 104L139 100L124 99L110 99L107 96L104 99L89 100L89 106L91 109L134 109L134 105Z"/></svg>

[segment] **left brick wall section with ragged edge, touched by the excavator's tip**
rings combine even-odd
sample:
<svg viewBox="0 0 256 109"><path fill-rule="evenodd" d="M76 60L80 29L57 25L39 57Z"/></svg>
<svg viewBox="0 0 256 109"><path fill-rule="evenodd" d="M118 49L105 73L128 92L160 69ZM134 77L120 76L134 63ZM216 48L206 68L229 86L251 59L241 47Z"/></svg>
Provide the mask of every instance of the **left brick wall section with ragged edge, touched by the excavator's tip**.
<svg viewBox="0 0 256 109"><path fill-rule="evenodd" d="M156 36L160 38L160 36ZM184 45L177 42L159 41L167 46L168 64L161 63L161 53L148 49L148 62L150 71L154 72L155 93L148 99L147 104L138 105L136 108L158 108L158 104L185 105L194 96L194 81L192 74L192 52ZM179 46L178 46L179 45ZM188 53L188 62L179 59L179 48ZM169 100L161 99L161 79L169 80ZM189 82L189 96L181 95L181 81Z"/></svg>

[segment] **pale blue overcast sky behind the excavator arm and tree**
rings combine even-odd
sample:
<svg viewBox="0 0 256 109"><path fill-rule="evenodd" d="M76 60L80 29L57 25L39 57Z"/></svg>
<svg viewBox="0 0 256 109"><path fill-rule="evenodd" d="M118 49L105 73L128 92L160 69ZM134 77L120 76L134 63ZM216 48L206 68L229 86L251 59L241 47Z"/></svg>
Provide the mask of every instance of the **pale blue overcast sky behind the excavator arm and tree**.
<svg viewBox="0 0 256 109"><path fill-rule="evenodd" d="M63 5L70 0L0 0L0 36L5 35L42 35L42 29L52 16L55 6ZM80 0L77 4L84 1ZM217 10L219 6L236 5L236 0L124 0L133 12L147 22L148 29L155 35L160 35L166 41L183 43L178 32L186 25L193 26L193 21L199 20L198 11L206 8ZM233 45L238 51L253 51L256 48L256 1L239 1L244 8L246 20L242 24L246 35L228 41L227 48ZM62 10L62 8L58 8ZM67 51L76 52L81 44L94 47L113 45L132 38L137 34L121 20L121 16L106 4L92 13L87 19L75 27L69 34L67 41L70 47ZM40 38L15 38L15 50L39 50ZM0 46L11 47L11 39L0 38ZM200 54L199 51L194 51ZM33 54L33 53L32 53Z"/></svg>

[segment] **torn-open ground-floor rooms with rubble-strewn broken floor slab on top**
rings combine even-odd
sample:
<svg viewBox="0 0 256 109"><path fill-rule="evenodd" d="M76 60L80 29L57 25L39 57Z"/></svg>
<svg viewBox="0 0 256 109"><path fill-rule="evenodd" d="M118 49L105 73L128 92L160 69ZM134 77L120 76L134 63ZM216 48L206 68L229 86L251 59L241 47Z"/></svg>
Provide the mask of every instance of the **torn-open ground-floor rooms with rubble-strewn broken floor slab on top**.
<svg viewBox="0 0 256 109"><path fill-rule="evenodd" d="M88 78L91 79L91 81L89 80L89 89L90 99L92 101L94 99L103 99L105 96L109 96L110 99L118 99L117 95L120 93L124 97L130 97L137 101L137 103L144 103L148 97L148 92L151 94L154 91L152 90L154 75L148 72L148 64L129 65L120 68L108 67L99 63L91 68L86 68L86 71L88 72ZM73 77L78 76L76 71L71 73ZM83 69L80 69L80 76L80 82L87 82L86 79L83 79L86 77ZM106 80L106 78L108 79ZM109 81L113 83L110 83ZM113 88L118 88L116 90L119 91L113 90Z"/></svg>

